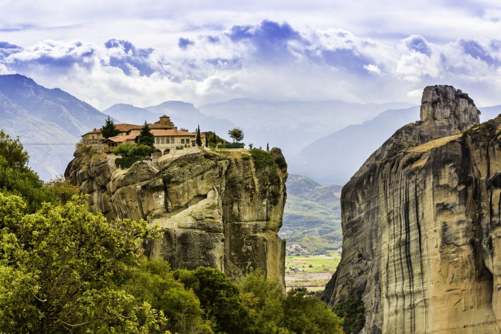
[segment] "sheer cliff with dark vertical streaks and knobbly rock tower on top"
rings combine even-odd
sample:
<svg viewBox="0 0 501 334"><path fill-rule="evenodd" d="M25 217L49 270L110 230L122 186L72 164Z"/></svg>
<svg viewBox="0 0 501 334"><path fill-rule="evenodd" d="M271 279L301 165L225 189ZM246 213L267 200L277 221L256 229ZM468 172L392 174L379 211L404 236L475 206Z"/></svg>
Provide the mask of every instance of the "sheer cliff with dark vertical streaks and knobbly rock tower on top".
<svg viewBox="0 0 501 334"><path fill-rule="evenodd" d="M500 332L501 116L478 125L447 86L422 102L421 122L343 188L342 259L324 298L362 298L362 332Z"/></svg>

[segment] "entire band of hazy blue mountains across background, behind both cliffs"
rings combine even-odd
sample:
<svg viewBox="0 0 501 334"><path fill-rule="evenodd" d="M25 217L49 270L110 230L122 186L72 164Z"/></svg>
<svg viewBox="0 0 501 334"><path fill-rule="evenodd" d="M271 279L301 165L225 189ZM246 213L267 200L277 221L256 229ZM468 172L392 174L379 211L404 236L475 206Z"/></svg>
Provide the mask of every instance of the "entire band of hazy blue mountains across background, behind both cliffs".
<svg viewBox="0 0 501 334"><path fill-rule="evenodd" d="M291 173L342 185L395 130L419 118L418 108L408 106L236 99L198 108L181 101L145 108L117 104L100 112L58 88L47 89L21 75L0 76L0 128L20 136L30 166L45 180L63 173L80 136L101 127L107 115L141 124L167 114L179 128L193 131L200 125L223 138L229 129L241 127L245 143L282 148ZM501 106L480 110L486 120L501 113Z"/></svg>

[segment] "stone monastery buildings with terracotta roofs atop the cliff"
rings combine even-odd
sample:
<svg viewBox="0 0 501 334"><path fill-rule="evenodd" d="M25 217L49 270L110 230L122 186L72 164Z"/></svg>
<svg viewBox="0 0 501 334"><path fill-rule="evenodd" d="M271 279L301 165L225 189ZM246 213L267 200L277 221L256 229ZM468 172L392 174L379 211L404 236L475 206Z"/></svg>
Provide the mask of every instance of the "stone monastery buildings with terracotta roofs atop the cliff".
<svg viewBox="0 0 501 334"><path fill-rule="evenodd" d="M163 115L155 123L148 124L151 134L154 136L155 150L152 159L158 160L163 155L169 154L176 147L185 148L196 146L196 132L178 130L169 116ZM115 124L119 134L114 137L105 138L102 129L94 129L82 136L82 144L92 146L99 152L107 154L113 153L119 144L135 145L137 136L141 132L143 125L120 123ZM205 143L205 134L201 133L201 142Z"/></svg>

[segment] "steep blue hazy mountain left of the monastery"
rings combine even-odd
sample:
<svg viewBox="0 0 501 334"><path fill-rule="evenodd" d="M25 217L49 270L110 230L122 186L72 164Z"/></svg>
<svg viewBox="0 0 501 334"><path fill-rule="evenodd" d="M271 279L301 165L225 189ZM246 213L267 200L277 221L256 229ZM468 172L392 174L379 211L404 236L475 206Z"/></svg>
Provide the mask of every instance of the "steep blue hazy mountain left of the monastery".
<svg viewBox="0 0 501 334"><path fill-rule="evenodd" d="M42 179L62 174L75 143L105 115L58 89L47 89L21 75L0 76L0 129L20 136L30 166Z"/></svg>

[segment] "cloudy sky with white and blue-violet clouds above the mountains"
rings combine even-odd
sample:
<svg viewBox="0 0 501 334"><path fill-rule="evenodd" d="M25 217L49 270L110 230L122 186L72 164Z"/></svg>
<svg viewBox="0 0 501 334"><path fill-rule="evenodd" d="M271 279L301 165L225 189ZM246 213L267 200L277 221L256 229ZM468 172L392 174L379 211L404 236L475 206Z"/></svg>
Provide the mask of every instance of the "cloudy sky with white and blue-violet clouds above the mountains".
<svg viewBox="0 0 501 334"><path fill-rule="evenodd" d="M498 0L0 0L0 74L99 109L182 100L501 104Z"/></svg>

